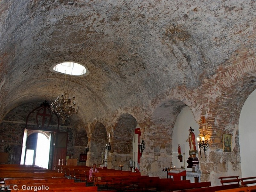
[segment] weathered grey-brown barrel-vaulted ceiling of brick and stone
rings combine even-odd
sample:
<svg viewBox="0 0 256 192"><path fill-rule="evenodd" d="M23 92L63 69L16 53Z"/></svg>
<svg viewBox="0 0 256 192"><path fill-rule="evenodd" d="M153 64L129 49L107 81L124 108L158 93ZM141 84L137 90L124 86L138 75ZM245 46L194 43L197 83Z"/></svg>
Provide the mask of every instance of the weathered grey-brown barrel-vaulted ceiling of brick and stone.
<svg viewBox="0 0 256 192"><path fill-rule="evenodd" d="M84 121L150 108L159 95L194 92L241 52L255 58L255 0L1 0L0 117L60 95L62 61ZM239 61L240 62L240 61ZM253 76L253 74L251 74ZM239 88L243 89L243 88Z"/></svg>

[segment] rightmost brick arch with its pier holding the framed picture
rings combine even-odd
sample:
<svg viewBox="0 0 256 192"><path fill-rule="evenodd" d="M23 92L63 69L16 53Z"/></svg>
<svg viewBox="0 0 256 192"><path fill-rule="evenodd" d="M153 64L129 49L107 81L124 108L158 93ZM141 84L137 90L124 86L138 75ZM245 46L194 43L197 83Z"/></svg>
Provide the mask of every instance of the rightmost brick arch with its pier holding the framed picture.
<svg viewBox="0 0 256 192"><path fill-rule="evenodd" d="M223 67L226 66L226 67ZM206 158L200 162L203 175L201 180L219 182L218 177L226 172L241 173L238 123L245 100L256 89L256 61L254 56L239 50L218 69L214 78L205 83L193 98L200 103L197 117L205 115L209 140ZM194 109L195 110L195 109ZM201 125L200 119L197 118ZM201 127L200 127L201 128ZM200 130L201 132L202 130ZM223 153L222 133L232 134L232 152ZM221 160L221 162L220 162ZM218 164L223 169L219 170ZM211 173L209 170L212 170Z"/></svg>

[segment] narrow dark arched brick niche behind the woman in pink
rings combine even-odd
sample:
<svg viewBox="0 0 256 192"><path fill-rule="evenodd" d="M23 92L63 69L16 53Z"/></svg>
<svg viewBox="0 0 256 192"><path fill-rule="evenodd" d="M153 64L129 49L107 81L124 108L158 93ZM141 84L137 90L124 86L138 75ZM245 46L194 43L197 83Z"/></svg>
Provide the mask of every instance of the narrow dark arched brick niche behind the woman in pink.
<svg viewBox="0 0 256 192"><path fill-rule="evenodd" d="M87 165L91 166L96 163L97 166L102 164L102 153L105 154L105 145L108 142L107 131L104 124L96 122L91 125L92 135L89 144L89 153Z"/></svg>

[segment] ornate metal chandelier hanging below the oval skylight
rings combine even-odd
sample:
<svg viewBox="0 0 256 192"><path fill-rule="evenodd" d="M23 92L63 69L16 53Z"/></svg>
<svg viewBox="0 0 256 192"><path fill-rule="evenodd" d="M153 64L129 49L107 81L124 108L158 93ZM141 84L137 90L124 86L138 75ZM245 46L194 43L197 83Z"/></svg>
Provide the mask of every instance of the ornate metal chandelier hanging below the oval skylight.
<svg viewBox="0 0 256 192"><path fill-rule="evenodd" d="M60 81L61 82L61 81ZM55 101L52 102L51 109L56 112L61 120L62 124L66 122L66 120L72 116L73 114L77 114L79 106L76 105L75 95L70 98L69 93L73 89L73 87L69 90L70 81L67 82L67 74L65 75L65 84L61 82L64 94L61 94L61 97L58 96Z"/></svg>

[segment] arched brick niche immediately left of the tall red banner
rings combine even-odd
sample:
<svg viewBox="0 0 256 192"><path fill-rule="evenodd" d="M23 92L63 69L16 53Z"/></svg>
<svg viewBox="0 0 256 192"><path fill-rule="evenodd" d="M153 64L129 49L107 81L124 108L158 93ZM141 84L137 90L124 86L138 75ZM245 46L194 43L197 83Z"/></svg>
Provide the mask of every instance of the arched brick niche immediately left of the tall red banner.
<svg viewBox="0 0 256 192"><path fill-rule="evenodd" d="M137 124L137 120L128 113L117 118L111 136L110 168L120 169L119 165L122 164L122 170L130 170L128 165L129 159L132 159L132 142Z"/></svg>

